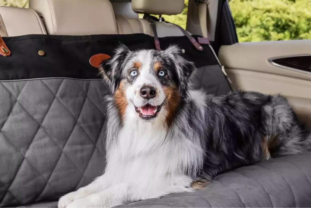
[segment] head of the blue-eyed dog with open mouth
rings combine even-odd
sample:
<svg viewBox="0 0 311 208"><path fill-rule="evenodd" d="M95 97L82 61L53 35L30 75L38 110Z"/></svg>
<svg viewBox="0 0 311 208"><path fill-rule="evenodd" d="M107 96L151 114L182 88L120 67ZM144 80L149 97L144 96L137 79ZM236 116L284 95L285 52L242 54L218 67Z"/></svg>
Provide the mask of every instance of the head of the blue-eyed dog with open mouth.
<svg viewBox="0 0 311 208"><path fill-rule="evenodd" d="M162 114L167 122L172 120L195 70L179 53L176 46L130 51L121 45L101 63L100 73L111 86L122 119L129 114L153 121Z"/></svg>

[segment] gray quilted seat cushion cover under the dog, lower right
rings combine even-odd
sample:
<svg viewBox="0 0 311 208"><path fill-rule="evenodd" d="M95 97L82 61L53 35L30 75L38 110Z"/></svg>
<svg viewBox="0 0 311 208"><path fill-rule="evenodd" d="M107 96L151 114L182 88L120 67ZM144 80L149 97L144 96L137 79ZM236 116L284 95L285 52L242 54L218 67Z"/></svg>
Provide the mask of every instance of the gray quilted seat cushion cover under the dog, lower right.
<svg viewBox="0 0 311 208"><path fill-rule="evenodd" d="M206 189L116 208L310 208L311 152L224 173Z"/></svg>

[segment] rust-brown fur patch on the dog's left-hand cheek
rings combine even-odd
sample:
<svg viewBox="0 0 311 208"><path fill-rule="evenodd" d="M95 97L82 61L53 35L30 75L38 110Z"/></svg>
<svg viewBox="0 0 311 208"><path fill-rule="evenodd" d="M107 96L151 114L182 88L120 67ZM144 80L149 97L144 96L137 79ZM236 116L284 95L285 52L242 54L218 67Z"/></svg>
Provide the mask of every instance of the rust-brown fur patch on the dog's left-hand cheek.
<svg viewBox="0 0 311 208"><path fill-rule="evenodd" d="M124 120L125 110L128 106L128 102L125 96L125 90L126 90L125 86L126 86L126 81L121 81L118 89L114 93L114 100L118 108L121 121Z"/></svg>

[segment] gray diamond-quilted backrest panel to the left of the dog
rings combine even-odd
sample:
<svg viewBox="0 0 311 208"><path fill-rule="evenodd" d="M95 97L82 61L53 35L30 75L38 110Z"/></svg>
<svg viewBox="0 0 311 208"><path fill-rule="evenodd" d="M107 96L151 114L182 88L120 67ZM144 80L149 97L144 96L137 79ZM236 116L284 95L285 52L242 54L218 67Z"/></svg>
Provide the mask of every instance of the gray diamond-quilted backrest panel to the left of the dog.
<svg viewBox="0 0 311 208"><path fill-rule="evenodd" d="M56 200L103 173L108 93L102 80L0 82L0 207Z"/></svg>

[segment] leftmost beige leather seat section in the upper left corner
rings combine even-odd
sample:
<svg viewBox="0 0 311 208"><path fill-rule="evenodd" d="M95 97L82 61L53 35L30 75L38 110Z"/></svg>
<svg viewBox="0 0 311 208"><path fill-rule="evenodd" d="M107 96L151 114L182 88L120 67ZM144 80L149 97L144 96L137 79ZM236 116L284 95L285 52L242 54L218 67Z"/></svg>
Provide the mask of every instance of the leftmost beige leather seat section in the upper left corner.
<svg viewBox="0 0 311 208"><path fill-rule="evenodd" d="M46 34L39 15L32 9L0 7L0 35Z"/></svg>

